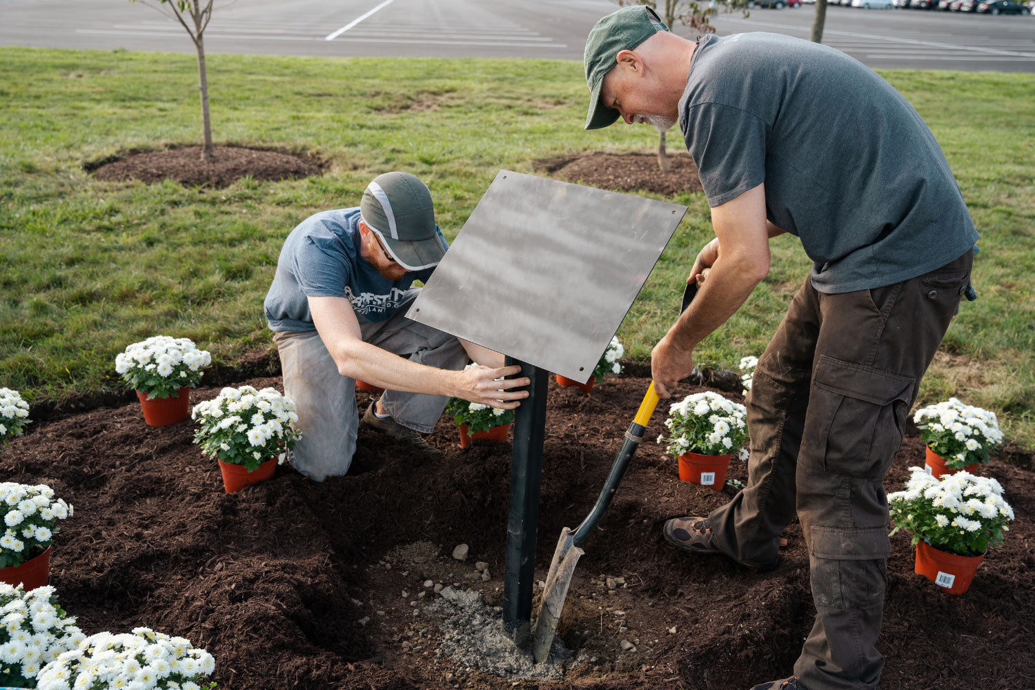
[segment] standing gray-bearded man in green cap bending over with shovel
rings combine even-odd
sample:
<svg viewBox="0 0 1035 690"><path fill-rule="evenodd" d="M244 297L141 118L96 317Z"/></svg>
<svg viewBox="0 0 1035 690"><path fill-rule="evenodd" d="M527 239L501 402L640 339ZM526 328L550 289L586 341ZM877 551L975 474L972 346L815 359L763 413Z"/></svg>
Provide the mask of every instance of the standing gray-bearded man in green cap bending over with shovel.
<svg viewBox="0 0 1035 690"><path fill-rule="evenodd" d="M585 57L586 128L678 121L711 207L715 239L687 281L710 267L708 279L651 353L659 396L766 277L771 237L797 236L812 260L755 371L747 486L710 515L669 520L666 539L767 570L797 511L816 622L795 676L755 690L877 688L882 480L977 239L952 171L901 95L825 46L770 33L694 43L633 6L597 23Z"/></svg>

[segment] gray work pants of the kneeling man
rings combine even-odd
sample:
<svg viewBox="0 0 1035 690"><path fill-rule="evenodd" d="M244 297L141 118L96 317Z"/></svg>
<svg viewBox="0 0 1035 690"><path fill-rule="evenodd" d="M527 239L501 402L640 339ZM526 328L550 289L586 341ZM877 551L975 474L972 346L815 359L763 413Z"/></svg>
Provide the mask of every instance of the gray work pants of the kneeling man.
<svg viewBox="0 0 1035 690"><path fill-rule="evenodd" d="M419 292L419 288L411 288L387 321L361 323L363 341L418 364L463 369L467 353L460 340L404 316ZM284 392L297 406L297 425L302 432L291 453L292 467L316 481L346 474L356 452L359 427L355 379L338 373L317 331L283 331L273 335L273 342L280 356ZM386 413L422 433L435 428L447 401L440 395L421 393L385 391L381 395Z"/></svg>

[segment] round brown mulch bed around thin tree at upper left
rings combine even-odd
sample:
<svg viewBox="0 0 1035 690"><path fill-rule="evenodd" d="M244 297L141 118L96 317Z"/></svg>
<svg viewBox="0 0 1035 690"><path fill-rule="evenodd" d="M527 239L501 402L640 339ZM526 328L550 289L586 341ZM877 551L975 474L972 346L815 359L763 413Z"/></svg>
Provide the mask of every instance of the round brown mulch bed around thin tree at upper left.
<svg viewBox="0 0 1035 690"><path fill-rule="evenodd" d="M148 184L165 179L187 186L226 187L252 176L257 180L293 180L320 175L324 163L308 155L238 146L216 146L208 162L200 146L153 151L128 151L88 163L85 170L98 180L141 180Z"/></svg>

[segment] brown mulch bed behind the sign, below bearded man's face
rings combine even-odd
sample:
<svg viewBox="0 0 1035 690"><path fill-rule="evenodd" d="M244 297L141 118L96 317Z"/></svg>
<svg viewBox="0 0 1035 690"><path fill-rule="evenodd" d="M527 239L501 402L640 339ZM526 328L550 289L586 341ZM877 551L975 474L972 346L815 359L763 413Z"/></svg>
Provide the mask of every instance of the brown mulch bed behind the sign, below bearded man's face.
<svg viewBox="0 0 1035 690"><path fill-rule="evenodd" d="M669 153L672 170L662 173L656 153L605 153L591 151L535 161L537 170L567 182L619 191L646 190L658 194L701 191L693 158Z"/></svg>

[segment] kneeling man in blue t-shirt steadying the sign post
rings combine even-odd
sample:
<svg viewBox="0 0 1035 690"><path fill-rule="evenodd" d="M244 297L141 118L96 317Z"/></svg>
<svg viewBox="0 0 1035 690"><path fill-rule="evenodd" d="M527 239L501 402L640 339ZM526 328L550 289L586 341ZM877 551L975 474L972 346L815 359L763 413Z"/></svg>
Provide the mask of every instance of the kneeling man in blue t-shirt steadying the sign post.
<svg viewBox="0 0 1035 690"><path fill-rule="evenodd" d="M344 475L367 426L415 453L449 397L516 408L527 378L503 355L406 318L448 245L432 194L408 173L379 175L358 207L317 213L288 236L264 310L302 438L292 466L323 481ZM468 357L487 366L464 370ZM385 388L359 419L356 380ZM504 389L504 390L500 390Z"/></svg>

